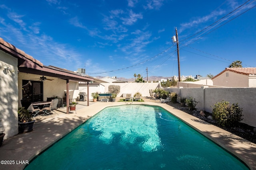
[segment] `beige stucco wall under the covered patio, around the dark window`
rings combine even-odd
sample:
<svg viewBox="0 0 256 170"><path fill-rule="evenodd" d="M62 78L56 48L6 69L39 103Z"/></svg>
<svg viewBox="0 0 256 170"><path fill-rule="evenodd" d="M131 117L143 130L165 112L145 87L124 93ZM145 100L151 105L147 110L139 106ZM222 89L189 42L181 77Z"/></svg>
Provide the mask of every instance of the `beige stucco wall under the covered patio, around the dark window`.
<svg viewBox="0 0 256 170"><path fill-rule="evenodd" d="M31 80L34 78L40 78L42 75L37 74L29 74L20 72L18 76L18 89L19 89L19 107L21 107L20 100L22 99L22 80ZM43 100L47 100L47 98L52 96L58 96L60 98L64 98L66 91L66 80L45 76L49 79L54 79L52 81L45 80L43 82ZM78 90L78 82L76 81L69 81L69 90L70 90L70 98L76 98L78 95L73 95L74 90Z"/></svg>

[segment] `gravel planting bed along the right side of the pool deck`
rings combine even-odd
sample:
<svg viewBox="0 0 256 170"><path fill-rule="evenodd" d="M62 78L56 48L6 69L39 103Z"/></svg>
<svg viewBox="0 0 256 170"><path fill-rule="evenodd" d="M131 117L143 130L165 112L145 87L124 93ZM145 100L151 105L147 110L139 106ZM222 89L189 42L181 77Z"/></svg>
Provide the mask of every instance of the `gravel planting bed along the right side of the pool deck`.
<svg viewBox="0 0 256 170"><path fill-rule="evenodd" d="M142 97L142 99L144 100L144 102L161 103L160 100L156 100L156 99L152 99L152 98ZM199 119L207 121L208 123L211 123L212 125L218 126L222 129L225 129L226 131L229 131L230 133L233 133L239 137L242 137L242 138L256 144L256 128L255 127L252 127L245 123L238 123L238 125L236 125L235 127L222 127L222 126L218 125L214 120L208 119L208 116L211 115L211 113L204 111L205 115L202 116L202 115L200 115L200 110L188 110L187 106L182 107L182 106L180 106L179 103L166 102L166 104L168 104L176 109L182 110L190 115L198 117Z"/></svg>

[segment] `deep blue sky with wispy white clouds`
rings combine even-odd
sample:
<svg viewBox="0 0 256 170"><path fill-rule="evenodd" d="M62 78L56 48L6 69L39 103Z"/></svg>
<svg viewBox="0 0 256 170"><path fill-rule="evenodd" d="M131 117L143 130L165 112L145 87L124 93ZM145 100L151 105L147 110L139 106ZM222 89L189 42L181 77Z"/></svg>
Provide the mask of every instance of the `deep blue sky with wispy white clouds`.
<svg viewBox="0 0 256 170"><path fill-rule="evenodd" d="M255 0L0 0L0 37L89 76L214 76L256 67Z"/></svg>

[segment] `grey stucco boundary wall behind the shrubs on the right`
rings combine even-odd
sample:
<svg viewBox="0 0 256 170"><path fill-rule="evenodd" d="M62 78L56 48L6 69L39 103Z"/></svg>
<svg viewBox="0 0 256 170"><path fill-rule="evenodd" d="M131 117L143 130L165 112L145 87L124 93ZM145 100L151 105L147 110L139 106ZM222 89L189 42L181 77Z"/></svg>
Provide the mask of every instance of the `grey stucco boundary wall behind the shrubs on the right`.
<svg viewBox="0 0 256 170"><path fill-rule="evenodd" d="M243 109L243 123L256 127L256 88L168 88L169 92L177 92L181 97L193 97L198 102L197 109L204 109L212 113L216 102L225 100L238 103Z"/></svg>

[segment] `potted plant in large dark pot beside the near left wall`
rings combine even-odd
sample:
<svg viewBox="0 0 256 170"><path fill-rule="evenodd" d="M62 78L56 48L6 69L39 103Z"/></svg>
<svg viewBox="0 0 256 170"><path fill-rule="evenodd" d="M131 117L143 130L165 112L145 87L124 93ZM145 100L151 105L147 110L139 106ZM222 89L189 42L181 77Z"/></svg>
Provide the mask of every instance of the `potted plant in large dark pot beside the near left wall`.
<svg viewBox="0 0 256 170"><path fill-rule="evenodd" d="M18 129L19 133L29 132L33 130L35 120L29 114L25 107L18 108Z"/></svg>

